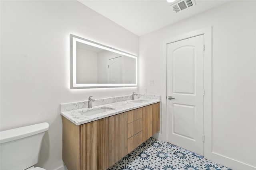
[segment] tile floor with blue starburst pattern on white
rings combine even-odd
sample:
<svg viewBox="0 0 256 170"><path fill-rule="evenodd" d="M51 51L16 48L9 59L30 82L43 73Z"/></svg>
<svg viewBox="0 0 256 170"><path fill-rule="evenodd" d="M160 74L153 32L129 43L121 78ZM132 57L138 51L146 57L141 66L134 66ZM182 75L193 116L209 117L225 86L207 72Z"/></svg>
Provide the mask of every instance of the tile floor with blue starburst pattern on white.
<svg viewBox="0 0 256 170"><path fill-rule="evenodd" d="M201 155L150 138L108 170L232 170Z"/></svg>

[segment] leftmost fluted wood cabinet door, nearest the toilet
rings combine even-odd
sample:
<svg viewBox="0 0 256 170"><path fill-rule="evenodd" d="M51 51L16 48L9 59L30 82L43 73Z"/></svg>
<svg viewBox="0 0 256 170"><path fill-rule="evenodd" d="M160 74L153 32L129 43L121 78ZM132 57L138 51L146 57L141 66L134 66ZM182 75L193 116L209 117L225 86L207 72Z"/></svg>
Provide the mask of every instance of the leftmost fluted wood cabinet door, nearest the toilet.
<svg viewBox="0 0 256 170"><path fill-rule="evenodd" d="M81 169L108 168L108 117L81 125Z"/></svg>

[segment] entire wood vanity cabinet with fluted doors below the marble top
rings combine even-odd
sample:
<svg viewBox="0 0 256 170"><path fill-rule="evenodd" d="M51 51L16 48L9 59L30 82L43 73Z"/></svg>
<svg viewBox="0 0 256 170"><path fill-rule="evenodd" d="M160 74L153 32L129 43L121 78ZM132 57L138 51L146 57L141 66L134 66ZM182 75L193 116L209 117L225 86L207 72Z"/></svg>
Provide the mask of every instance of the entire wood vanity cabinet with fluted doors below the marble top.
<svg viewBox="0 0 256 170"><path fill-rule="evenodd" d="M68 170L106 170L159 131L159 103L75 125L62 117Z"/></svg>

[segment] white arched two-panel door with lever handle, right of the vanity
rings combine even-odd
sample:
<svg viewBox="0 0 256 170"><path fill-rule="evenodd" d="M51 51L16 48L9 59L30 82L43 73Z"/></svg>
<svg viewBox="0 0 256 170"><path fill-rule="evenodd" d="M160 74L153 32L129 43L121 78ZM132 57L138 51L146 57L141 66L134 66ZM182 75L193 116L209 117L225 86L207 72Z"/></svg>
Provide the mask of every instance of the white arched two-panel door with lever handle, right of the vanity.
<svg viewBox="0 0 256 170"><path fill-rule="evenodd" d="M167 96L167 141L204 155L204 35L167 45Z"/></svg>

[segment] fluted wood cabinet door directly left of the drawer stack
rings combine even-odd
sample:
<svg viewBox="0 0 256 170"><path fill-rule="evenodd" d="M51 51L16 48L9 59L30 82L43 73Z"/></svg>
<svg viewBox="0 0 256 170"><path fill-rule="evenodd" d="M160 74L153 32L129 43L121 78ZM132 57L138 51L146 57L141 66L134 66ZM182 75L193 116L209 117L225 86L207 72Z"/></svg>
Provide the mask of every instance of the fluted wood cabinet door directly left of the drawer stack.
<svg viewBox="0 0 256 170"><path fill-rule="evenodd" d="M127 154L127 112L110 116L109 131L109 166Z"/></svg>

